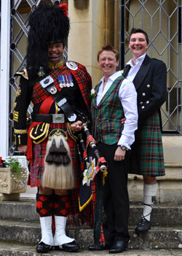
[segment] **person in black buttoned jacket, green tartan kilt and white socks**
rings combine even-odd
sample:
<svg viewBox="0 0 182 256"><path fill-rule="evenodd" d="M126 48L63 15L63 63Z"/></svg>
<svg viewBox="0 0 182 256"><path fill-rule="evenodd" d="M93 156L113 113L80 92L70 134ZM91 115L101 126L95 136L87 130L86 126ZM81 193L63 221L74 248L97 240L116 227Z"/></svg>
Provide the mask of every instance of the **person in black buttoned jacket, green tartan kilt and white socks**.
<svg viewBox="0 0 182 256"><path fill-rule="evenodd" d="M132 145L130 170L132 174L143 175L143 214L135 228L135 232L142 233L151 228L156 177L165 175L160 106L166 99L167 69L165 63L146 55L149 47L146 31L132 28L129 39L132 59L125 70L138 93L138 130Z"/></svg>

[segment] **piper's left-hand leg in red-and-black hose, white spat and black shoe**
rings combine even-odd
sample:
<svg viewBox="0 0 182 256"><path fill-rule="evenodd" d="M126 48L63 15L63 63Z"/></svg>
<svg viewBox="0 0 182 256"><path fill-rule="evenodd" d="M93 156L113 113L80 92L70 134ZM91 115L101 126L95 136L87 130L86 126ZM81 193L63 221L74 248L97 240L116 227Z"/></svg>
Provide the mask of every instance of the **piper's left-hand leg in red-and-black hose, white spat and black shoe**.
<svg viewBox="0 0 182 256"><path fill-rule="evenodd" d="M52 190L41 187L36 194L36 212L41 223L41 241L36 247L40 253L49 252L54 245L52 236Z"/></svg>

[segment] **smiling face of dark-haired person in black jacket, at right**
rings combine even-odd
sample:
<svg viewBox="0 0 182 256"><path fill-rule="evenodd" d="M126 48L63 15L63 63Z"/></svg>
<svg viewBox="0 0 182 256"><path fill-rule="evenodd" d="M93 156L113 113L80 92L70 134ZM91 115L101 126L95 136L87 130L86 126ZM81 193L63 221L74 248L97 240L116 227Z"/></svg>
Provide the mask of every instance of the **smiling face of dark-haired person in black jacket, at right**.
<svg viewBox="0 0 182 256"><path fill-rule="evenodd" d="M129 48L134 58L139 58L146 53L149 43L146 42L146 36L143 33L135 33L130 37Z"/></svg>

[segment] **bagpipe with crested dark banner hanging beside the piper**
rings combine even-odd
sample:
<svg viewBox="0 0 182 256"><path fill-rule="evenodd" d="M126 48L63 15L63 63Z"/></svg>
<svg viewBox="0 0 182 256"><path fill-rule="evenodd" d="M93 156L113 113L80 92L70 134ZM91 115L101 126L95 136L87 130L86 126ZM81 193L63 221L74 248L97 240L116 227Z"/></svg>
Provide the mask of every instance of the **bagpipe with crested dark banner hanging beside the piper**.
<svg viewBox="0 0 182 256"><path fill-rule="evenodd" d="M103 209L103 186L107 172L107 162L98 150L98 143L93 138L87 127L90 123L84 115L79 113L82 121L82 128L87 137L86 146L82 137L80 144L84 150L84 171L79 191L79 210L82 211L92 200L94 211L94 244L99 247L100 241L104 241L102 228L102 209ZM100 240L101 239L101 240Z"/></svg>

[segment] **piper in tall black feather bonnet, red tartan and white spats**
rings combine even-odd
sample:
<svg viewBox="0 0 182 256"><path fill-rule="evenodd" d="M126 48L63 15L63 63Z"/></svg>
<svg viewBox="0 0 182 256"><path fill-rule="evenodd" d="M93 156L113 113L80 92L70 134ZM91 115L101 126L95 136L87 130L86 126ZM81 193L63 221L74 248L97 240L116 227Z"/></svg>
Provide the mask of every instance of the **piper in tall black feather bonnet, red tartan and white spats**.
<svg viewBox="0 0 182 256"><path fill-rule="evenodd" d="M78 203L82 173L75 132L82 134L78 113L90 116L88 96L92 82L82 64L73 61L63 64L70 28L66 7L44 2L31 12L27 69L17 72L20 85L14 108L15 144L30 162L28 185L38 187L36 210L41 241L36 250L40 253L49 252L52 246L76 252L79 245L66 236L66 220L72 227L82 224ZM31 102L33 113L27 128ZM48 180L44 182L46 169ZM47 185L52 180L52 185ZM88 212L86 221L92 225L92 212Z"/></svg>

